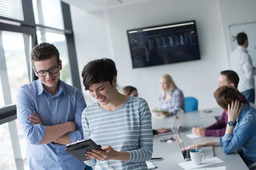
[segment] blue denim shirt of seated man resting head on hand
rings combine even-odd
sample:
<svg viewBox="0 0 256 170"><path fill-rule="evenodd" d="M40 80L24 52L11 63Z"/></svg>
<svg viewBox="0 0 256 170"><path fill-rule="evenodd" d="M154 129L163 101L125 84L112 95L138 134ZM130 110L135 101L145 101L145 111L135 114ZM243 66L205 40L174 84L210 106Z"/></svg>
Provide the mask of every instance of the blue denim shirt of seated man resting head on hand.
<svg viewBox="0 0 256 170"><path fill-rule="evenodd" d="M233 134L217 138L226 154L234 153L242 148L245 164L256 162L256 109L247 104L241 110Z"/></svg>

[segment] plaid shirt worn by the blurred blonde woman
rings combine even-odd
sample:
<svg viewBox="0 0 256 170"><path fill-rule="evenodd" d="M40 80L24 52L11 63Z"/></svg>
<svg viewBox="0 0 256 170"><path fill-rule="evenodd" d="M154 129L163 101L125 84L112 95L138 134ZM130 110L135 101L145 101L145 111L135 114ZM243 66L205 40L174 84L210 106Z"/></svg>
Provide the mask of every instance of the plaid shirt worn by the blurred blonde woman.
<svg viewBox="0 0 256 170"><path fill-rule="evenodd" d="M178 108L184 110L184 96L182 91L175 89L174 91L171 91L171 96L172 98L169 99L169 101L166 101L165 95L160 94L158 97L157 108L172 112L173 114L177 113Z"/></svg>

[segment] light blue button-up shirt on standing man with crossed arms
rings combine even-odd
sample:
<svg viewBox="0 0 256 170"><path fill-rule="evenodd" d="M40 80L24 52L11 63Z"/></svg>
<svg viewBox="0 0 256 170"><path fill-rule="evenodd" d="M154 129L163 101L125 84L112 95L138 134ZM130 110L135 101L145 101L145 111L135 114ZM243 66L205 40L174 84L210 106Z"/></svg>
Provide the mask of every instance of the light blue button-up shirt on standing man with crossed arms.
<svg viewBox="0 0 256 170"><path fill-rule="evenodd" d="M30 170L84 170L84 162L65 152L66 146L53 142L40 144L46 133L46 126L69 121L74 121L77 125L77 130L67 133L71 142L83 139L81 113L86 108L86 103L81 91L59 80L59 90L52 96L45 91L39 80L35 80L20 87L16 102L17 119L27 140ZM38 114L44 126L33 125L29 120L33 111Z"/></svg>

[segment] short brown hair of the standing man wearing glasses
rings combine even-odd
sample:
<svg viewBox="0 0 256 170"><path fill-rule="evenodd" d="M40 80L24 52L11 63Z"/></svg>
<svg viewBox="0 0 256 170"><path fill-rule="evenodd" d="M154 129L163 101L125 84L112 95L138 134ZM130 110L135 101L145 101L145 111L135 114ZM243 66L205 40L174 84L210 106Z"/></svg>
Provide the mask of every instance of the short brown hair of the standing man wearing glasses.
<svg viewBox="0 0 256 170"><path fill-rule="evenodd" d="M53 45L47 42L42 42L41 44L36 45L30 54L30 60L34 65L35 61L43 61L46 59L50 59L53 56L56 57L57 62L60 61L60 54L58 49Z"/></svg>

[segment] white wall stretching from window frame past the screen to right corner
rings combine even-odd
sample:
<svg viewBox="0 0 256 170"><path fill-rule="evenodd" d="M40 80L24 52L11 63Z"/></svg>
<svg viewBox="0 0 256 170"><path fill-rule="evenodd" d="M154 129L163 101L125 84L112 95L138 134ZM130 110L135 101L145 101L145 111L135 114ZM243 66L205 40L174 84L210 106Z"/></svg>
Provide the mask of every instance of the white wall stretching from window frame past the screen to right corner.
<svg viewBox="0 0 256 170"><path fill-rule="evenodd" d="M91 59L113 58L118 85L137 87L151 108L162 74L170 74L185 96L195 96L199 109L217 107L213 92L227 69L218 1L157 0L90 14L71 6L71 15L80 71ZM201 60L132 69L126 30L187 20L196 20Z"/></svg>

